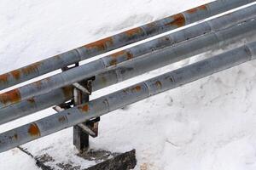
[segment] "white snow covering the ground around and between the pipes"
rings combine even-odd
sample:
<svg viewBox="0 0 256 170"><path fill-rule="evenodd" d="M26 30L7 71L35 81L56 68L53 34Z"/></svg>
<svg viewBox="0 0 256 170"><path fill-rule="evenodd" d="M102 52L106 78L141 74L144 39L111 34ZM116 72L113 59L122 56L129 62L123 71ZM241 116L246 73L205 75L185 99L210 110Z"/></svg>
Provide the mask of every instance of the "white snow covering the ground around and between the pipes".
<svg viewBox="0 0 256 170"><path fill-rule="evenodd" d="M0 73L77 48L207 0L2 0ZM188 61L189 62L189 61ZM93 98L141 82L182 64L102 89ZM102 116L92 148L137 150L137 170L253 170L256 168L256 62L144 99ZM19 127L55 113L39 111L0 126ZM75 153L72 128L25 144L34 153L62 144L55 155ZM68 159L68 157L67 157ZM39 169L18 149L0 154L0 169Z"/></svg>

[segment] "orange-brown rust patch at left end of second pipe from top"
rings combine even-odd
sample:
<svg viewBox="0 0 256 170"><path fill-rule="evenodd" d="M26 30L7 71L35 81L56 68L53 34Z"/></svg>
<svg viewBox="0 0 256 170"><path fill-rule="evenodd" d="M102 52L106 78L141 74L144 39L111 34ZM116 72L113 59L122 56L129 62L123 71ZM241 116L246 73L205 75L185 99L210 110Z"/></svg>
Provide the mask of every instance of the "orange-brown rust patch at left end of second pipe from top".
<svg viewBox="0 0 256 170"><path fill-rule="evenodd" d="M15 104L20 100L21 100L20 91L18 89L14 89L4 94L0 94L0 102L3 105L7 105L9 103Z"/></svg>

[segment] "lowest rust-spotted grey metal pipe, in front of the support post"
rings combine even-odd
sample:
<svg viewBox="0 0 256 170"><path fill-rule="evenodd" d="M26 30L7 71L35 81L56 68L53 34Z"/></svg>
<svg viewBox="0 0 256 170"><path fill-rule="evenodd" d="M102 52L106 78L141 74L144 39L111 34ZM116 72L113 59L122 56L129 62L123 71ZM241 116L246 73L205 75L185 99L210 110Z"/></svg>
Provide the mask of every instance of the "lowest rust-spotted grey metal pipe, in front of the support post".
<svg viewBox="0 0 256 170"><path fill-rule="evenodd" d="M0 134L0 152L256 58L256 42Z"/></svg>

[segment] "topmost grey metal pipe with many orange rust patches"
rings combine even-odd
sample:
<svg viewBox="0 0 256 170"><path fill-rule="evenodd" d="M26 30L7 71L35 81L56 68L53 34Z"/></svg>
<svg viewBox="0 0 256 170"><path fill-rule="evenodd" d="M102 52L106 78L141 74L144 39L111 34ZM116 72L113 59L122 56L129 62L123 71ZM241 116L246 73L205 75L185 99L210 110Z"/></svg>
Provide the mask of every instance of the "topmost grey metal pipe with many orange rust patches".
<svg viewBox="0 0 256 170"><path fill-rule="evenodd" d="M232 8L253 2L255 2L255 0L218 0L201 5L197 8L191 8L180 14L174 14L162 20L148 23L144 26L121 32L112 37L92 42L80 48L75 48L66 53L0 75L0 90L44 75L50 71L55 71L67 65L72 65L80 60L89 59L90 57L106 53L115 48L124 47L132 42L138 42L145 38L153 37L157 34L171 31L178 27L189 25L198 20L203 20L215 14L220 14Z"/></svg>

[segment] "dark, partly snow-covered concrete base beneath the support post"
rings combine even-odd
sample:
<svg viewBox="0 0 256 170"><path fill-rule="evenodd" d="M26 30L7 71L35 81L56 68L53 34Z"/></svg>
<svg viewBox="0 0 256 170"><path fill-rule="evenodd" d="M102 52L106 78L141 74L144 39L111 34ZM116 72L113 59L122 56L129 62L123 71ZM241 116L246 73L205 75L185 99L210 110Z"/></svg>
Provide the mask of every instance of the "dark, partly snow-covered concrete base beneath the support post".
<svg viewBox="0 0 256 170"><path fill-rule="evenodd" d="M29 156L32 156L36 160L38 167L41 167L43 170L129 170L133 169L137 164L135 150L125 153L89 150L84 154L73 156L73 159L75 157L77 159L84 159L83 166L79 166L65 157L63 157L62 161L55 161L55 157L50 156L48 153L33 156L28 150L20 149Z"/></svg>

